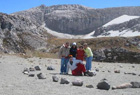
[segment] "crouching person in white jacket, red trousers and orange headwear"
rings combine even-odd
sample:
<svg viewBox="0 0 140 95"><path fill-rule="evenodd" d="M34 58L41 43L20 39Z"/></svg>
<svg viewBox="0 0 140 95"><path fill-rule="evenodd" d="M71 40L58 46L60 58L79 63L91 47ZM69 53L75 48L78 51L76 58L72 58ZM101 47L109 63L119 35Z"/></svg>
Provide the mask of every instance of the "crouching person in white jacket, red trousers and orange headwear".
<svg viewBox="0 0 140 95"><path fill-rule="evenodd" d="M67 64L67 74L69 72L69 69L72 71L72 75L74 76L82 76L83 74L86 75L86 69L81 60L73 59L73 56L69 56L69 62Z"/></svg>

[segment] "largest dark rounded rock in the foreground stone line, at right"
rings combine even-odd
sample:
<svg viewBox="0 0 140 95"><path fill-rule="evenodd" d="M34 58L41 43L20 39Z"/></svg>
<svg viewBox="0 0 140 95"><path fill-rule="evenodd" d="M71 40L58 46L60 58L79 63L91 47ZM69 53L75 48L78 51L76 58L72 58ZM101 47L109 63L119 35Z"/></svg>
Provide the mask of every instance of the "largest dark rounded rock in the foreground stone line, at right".
<svg viewBox="0 0 140 95"><path fill-rule="evenodd" d="M103 79L97 84L97 88L102 89L102 90L109 90L110 85L109 85L109 83L107 82L106 79Z"/></svg>

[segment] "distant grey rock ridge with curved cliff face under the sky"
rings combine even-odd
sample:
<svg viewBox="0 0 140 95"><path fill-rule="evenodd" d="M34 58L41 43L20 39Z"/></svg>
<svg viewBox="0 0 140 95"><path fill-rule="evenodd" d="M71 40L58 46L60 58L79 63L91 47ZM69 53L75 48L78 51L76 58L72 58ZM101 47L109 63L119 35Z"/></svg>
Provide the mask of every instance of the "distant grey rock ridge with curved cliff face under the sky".
<svg viewBox="0 0 140 95"><path fill-rule="evenodd" d="M44 24L51 30L68 34L88 34L121 15L140 16L140 7L92 9L81 5L41 5L13 13Z"/></svg>

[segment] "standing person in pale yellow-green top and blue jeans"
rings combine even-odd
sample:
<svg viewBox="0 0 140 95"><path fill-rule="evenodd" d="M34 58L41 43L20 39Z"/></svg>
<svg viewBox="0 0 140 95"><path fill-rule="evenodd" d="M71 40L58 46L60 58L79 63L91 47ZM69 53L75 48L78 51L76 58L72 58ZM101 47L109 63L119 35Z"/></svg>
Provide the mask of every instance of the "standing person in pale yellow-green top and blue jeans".
<svg viewBox="0 0 140 95"><path fill-rule="evenodd" d="M91 49L87 46L87 43L84 43L84 51L86 55L86 70L90 71L92 67L93 53Z"/></svg>

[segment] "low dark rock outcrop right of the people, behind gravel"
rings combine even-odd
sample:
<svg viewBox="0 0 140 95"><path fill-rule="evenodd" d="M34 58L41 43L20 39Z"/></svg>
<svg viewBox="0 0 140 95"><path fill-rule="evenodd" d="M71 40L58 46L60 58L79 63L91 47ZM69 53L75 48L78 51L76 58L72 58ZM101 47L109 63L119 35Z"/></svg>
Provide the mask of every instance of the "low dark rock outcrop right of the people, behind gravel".
<svg viewBox="0 0 140 95"><path fill-rule="evenodd" d="M97 51L95 51L97 52ZM105 56L95 56L95 61L140 63L140 53L124 48L108 48L103 50ZM104 59L102 59L102 57Z"/></svg>

